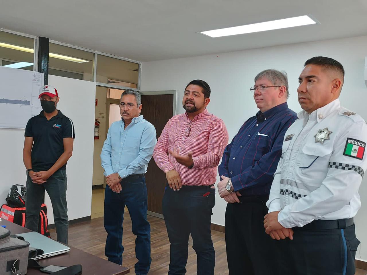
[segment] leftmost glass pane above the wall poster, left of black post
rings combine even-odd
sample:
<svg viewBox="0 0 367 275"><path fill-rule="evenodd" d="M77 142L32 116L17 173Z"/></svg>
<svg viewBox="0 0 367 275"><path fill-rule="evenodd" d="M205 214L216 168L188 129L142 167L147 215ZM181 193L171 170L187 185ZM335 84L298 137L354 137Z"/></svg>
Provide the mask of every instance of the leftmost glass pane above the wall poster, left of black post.
<svg viewBox="0 0 367 275"><path fill-rule="evenodd" d="M34 39L0 31L0 66L33 71Z"/></svg>

